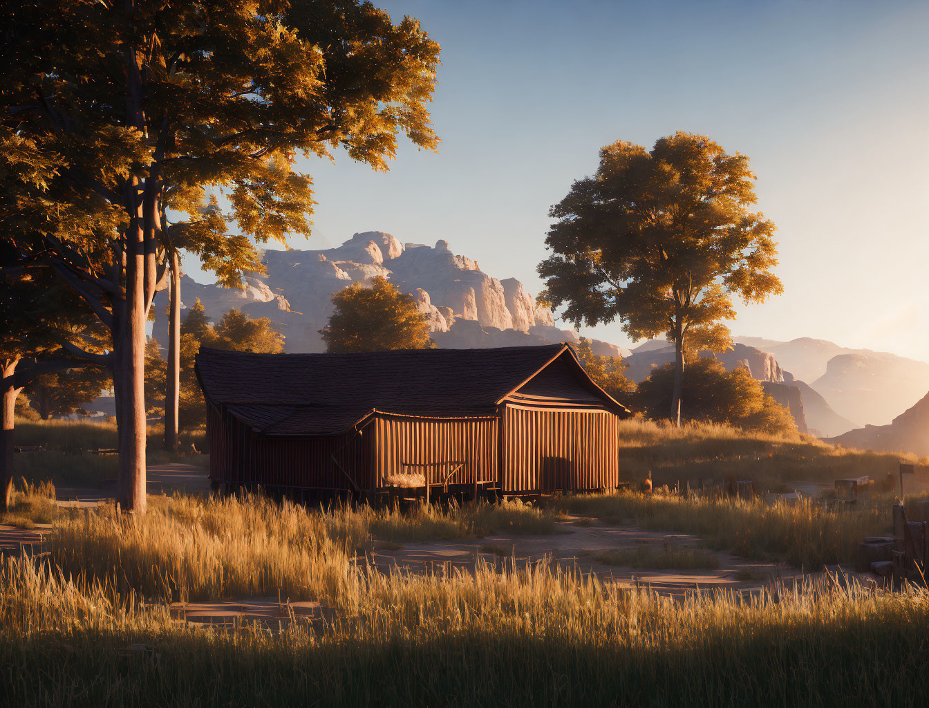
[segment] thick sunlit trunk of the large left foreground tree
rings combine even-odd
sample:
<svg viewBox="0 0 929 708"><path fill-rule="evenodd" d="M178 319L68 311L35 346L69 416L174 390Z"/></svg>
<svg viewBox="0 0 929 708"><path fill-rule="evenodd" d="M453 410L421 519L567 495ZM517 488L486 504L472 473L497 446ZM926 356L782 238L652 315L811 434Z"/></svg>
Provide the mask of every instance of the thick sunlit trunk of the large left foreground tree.
<svg viewBox="0 0 929 708"><path fill-rule="evenodd" d="M141 211L141 209L139 209ZM114 311L113 393L119 434L116 503L145 513L145 260L140 219L128 229L125 300Z"/></svg>

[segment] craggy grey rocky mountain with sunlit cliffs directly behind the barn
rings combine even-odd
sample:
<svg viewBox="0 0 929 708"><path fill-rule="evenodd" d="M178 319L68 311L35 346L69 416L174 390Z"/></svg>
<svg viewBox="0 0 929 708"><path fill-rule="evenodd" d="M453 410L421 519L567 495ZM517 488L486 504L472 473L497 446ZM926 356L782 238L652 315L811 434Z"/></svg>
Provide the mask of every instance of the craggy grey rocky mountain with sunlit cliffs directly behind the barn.
<svg viewBox="0 0 929 708"><path fill-rule="evenodd" d="M451 253L449 244L400 243L389 233L356 233L337 248L318 251L266 251L266 274L251 273L242 290L195 282L185 276L181 299L200 298L217 321L237 308L251 317L268 317L284 334L287 351L322 351L319 331L332 313L332 295L352 282L383 276L412 295L429 322L439 347L507 347L578 340L559 329L551 311L515 278L498 280L477 261ZM156 307L152 334L164 341L164 308ZM182 315L183 316L183 315ZM595 340L597 354L622 356L621 347Z"/></svg>

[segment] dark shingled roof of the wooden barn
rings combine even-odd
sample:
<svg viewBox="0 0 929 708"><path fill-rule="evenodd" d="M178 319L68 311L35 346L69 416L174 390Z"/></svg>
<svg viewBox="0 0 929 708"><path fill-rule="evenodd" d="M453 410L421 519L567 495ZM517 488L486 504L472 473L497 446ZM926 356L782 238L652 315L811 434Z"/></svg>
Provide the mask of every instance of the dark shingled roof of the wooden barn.
<svg viewBox="0 0 929 708"><path fill-rule="evenodd" d="M272 435L332 435L370 413L475 416L495 407L549 364L579 370L582 384L616 412L567 345L399 349L354 354L254 354L202 347L203 394Z"/></svg>

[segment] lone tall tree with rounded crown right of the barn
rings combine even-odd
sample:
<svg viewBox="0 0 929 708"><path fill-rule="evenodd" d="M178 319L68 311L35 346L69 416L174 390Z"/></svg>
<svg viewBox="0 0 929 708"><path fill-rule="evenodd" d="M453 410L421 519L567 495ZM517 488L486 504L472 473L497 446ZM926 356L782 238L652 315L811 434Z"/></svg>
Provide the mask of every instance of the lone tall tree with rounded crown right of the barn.
<svg viewBox="0 0 929 708"><path fill-rule="evenodd" d="M745 155L705 136L678 132L651 151L618 140L551 209L540 298L577 325L620 319L634 339L673 342L678 422L686 347L729 347L733 296L782 291L775 226L749 209L754 179Z"/></svg>

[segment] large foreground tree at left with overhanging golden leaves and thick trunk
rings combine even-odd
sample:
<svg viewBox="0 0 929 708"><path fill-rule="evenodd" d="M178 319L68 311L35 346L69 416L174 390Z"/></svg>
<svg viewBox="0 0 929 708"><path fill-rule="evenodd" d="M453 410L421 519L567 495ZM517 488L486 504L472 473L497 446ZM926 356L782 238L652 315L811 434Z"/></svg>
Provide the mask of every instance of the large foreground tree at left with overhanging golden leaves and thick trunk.
<svg viewBox="0 0 929 708"><path fill-rule="evenodd" d="M0 7L0 224L109 328L110 352L69 348L111 367L117 503L144 511L145 324L166 260L187 249L241 282L261 268L252 241L309 230L298 156L342 146L386 169L399 132L434 147L438 45L358 0Z"/></svg>

